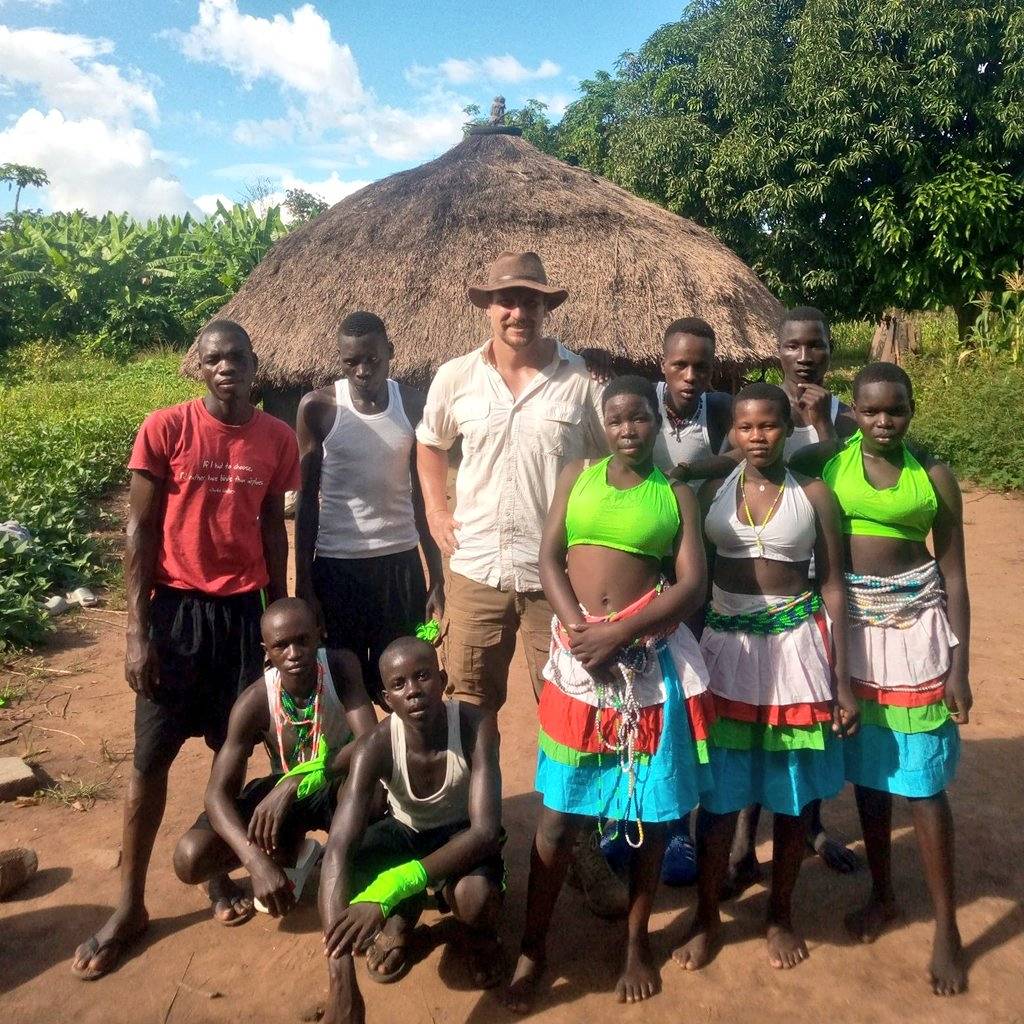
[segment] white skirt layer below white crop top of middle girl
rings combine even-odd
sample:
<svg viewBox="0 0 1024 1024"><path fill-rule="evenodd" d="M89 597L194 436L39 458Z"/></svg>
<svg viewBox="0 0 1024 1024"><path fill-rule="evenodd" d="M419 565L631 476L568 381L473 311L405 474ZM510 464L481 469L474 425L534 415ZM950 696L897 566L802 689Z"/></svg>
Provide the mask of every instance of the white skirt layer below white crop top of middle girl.
<svg viewBox="0 0 1024 1024"><path fill-rule="evenodd" d="M712 607L721 615L759 611L792 600L733 594L715 587ZM785 633L741 633L705 628L700 638L711 689L729 700L760 708L831 700L831 668L821 630L807 618Z"/></svg>

